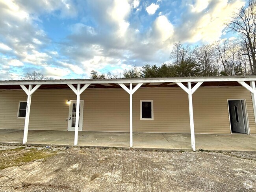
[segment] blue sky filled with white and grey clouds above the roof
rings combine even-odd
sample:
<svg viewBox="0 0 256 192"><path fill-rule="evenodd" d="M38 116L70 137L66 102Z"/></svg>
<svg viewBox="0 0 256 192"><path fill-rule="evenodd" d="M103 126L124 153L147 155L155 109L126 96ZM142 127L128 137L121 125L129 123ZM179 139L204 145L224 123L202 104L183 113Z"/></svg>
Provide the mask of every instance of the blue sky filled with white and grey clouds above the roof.
<svg viewBox="0 0 256 192"><path fill-rule="evenodd" d="M0 80L86 79L169 62L174 42L230 38L243 0L0 0Z"/></svg>

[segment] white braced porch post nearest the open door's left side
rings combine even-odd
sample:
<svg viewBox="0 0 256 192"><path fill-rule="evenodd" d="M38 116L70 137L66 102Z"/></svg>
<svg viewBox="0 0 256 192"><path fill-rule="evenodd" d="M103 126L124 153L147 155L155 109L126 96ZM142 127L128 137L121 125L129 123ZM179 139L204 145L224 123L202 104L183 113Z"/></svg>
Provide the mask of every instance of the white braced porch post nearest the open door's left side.
<svg viewBox="0 0 256 192"><path fill-rule="evenodd" d="M202 85L202 83L203 83L202 81L198 82L192 89L191 82L187 82L187 87L182 83L177 82L177 85L180 86L188 94L191 148L193 151L196 151L196 145L195 145L195 127L194 127L192 94L198 89L198 87L200 87L200 85Z"/></svg>

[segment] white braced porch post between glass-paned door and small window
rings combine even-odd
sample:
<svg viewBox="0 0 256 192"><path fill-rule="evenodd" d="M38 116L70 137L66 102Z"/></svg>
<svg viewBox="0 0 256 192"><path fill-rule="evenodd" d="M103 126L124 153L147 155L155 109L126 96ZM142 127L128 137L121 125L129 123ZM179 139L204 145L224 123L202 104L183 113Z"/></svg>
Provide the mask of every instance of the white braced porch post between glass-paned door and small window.
<svg viewBox="0 0 256 192"><path fill-rule="evenodd" d="M138 83L134 89L132 89L132 83L130 83L130 89L128 89L124 84L118 83L120 87L122 87L126 92L130 94L130 148L133 147L133 138L132 138L132 94L135 93L136 90L138 90L143 83Z"/></svg>

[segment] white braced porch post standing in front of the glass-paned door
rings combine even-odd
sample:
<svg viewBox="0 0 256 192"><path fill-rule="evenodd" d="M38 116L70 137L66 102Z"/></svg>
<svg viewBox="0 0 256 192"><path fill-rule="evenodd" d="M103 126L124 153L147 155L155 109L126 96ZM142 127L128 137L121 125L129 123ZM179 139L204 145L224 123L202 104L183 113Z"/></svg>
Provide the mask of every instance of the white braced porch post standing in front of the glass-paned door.
<svg viewBox="0 0 256 192"><path fill-rule="evenodd" d="M80 112L80 95L82 92L89 87L90 84L85 84L82 89L81 84L77 84L77 89L74 88L72 84L67 84L70 89L76 94L76 122L75 122L75 138L74 138L74 145L78 144L78 127L79 127L79 112Z"/></svg>

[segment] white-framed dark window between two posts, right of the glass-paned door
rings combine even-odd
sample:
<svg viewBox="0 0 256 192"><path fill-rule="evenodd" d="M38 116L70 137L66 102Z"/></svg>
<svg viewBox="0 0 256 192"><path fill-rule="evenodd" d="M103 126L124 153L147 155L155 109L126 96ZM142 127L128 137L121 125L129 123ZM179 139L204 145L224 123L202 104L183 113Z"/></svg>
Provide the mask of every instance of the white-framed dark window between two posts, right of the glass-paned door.
<svg viewBox="0 0 256 192"><path fill-rule="evenodd" d="M154 120L153 100L141 100L141 120Z"/></svg>

